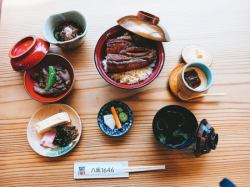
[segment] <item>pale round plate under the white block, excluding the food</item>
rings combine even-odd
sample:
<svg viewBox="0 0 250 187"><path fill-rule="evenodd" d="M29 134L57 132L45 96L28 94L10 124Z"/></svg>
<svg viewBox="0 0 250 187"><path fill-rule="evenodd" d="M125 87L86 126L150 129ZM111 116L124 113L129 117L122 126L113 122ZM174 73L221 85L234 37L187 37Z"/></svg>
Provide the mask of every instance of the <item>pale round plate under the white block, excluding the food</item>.
<svg viewBox="0 0 250 187"><path fill-rule="evenodd" d="M71 125L78 130L77 138L65 147L45 148L40 145L41 136L37 134L35 124L49 116L59 112L67 112L69 114ZM65 104L51 104L45 105L36 111L31 117L27 126L27 138L31 148L39 155L45 157L58 157L70 152L79 142L82 133L81 119L77 112Z"/></svg>

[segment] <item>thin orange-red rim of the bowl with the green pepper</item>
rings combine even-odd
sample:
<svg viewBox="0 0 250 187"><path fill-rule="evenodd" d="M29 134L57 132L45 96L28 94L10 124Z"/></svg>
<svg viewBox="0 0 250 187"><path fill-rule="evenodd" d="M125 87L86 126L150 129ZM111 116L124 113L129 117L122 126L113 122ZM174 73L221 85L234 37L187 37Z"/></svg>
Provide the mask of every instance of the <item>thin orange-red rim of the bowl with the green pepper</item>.
<svg viewBox="0 0 250 187"><path fill-rule="evenodd" d="M72 91L73 86L74 86L74 83L75 83L74 68L73 68L72 64L68 61L68 59L66 59L66 58L65 58L64 56L62 56L62 55L59 55L59 54L56 54L56 53L47 53L46 56L47 56L47 55L54 55L54 56L59 56L59 57L63 58L63 59L65 60L65 62L68 63L69 67L72 69L73 80L72 80L72 83L71 83L71 86L69 87L69 89L68 89L65 93L62 93L61 95L59 95L59 96L57 96L57 97L50 97L50 100L44 101L44 100L40 100L40 99L38 99L38 98L35 98L35 97L33 97L33 96L30 94L30 92L29 92L29 90L28 90L28 88L27 88L27 86L26 86L26 84L27 84L27 83L26 83L26 76L27 76L27 74L29 73L28 71L25 71L25 72L24 72L24 88L25 88L26 92L29 94L29 96L30 96L32 99L36 100L36 101L39 101L39 102L41 102L41 103L55 103L55 102L57 102L57 101L60 101L60 100L64 99L64 98L65 98L67 95L69 95L69 93ZM41 97L43 97L43 96L41 96ZM43 98L47 98L47 97L43 97Z"/></svg>

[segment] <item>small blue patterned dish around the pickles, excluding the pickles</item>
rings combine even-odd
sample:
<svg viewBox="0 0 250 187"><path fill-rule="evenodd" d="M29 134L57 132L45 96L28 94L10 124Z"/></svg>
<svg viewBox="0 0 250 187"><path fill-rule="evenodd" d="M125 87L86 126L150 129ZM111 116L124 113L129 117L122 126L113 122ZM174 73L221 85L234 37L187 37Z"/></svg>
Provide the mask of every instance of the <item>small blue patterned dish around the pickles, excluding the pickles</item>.
<svg viewBox="0 0 250 187"><path fill-rule="evenodd" d="M107 114L111 114L110 108L112 106L121 107L128 116L127 121L122 123L122 129L117 129L117 128L111 129L104 123L103 116ZM129 106L126 105L125 103L121 101L111 101L102 106L97 116L97 122L98 122L99 128L102 130L104 134L111 136L111 137L118 137L118 136L122 136L126 134L129 131L129 129L132 127L133 113L132 113L132 110L129 108Z"/></svg>

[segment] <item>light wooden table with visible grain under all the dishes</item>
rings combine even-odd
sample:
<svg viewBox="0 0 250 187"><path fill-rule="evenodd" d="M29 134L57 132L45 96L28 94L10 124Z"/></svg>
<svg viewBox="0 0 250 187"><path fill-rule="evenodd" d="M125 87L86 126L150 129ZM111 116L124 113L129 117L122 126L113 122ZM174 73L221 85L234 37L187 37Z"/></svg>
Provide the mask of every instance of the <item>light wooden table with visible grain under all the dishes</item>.
<svg viewBox="0 0 250 187"><path fill-rule="evenodd" d="M8 51L20 38L42 36L45 18L55 12L76 9L89 24L85 43L61 53L74 68L74 90L64 103L81 116L83 134L79 145L57 159L33 152L26 138L27 123L41 103L29 97L23 74L12 70ZM166 61L160 76L135 91L120 90L98 74L94 47L101 34L124 15L149 11L161 18L172 41L165 43ZM250 3L249 1L4 1L0 27L0 186L218 186L228 177L238 186L250 186ZM167 89L170 71L179 63L187 44L204 46L214 57L215 84L202 102L178 101ZM101 133L96 117L112 100L126 102L134 111L131 131L111 139ZM207 118L219 133L217 150L195 158L192 149L172 152L158 145L152 119L161 107L178 104L192 110L200 121ZM74 161L128 160L130 165L166 164L159 172L131 174L129 179L73 179Z"/></svg>

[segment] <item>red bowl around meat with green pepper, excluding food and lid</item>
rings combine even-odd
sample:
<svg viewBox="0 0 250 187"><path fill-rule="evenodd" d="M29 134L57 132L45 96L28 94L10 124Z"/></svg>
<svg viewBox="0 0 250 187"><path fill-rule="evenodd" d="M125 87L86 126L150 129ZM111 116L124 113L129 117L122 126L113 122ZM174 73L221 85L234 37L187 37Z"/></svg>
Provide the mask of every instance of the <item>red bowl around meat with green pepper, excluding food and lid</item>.
<svg viewBox="0 0 250 187"><path fill-rule="evenodd" d="M56 97L44 97L44 96L39 95L38 93L36 93L34 91L34 81L31 79L32 71L35 71L37 68L42 68L45 65L57 65L57 64L60 64L63 67L65 67L70 73L72 81L71 81L69 89L65 93L63 93L59 96L56 96ZM34 67L31 70L26 71L24 73L24 86L25 86L27 93L33 99L35 99L39 102L42 102L42 103L53 103L53 102L57 102L57 101L65 98L73 89L74 80L75 80L74 69L73 69L72 65L70 64L70 62L66 58L64 58L63 56L58 55L58 54L53 54L53 53L47 54L44 57L44 59L36 67Z"/></svg>

